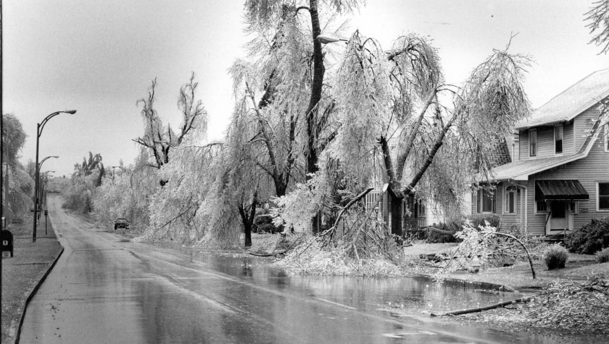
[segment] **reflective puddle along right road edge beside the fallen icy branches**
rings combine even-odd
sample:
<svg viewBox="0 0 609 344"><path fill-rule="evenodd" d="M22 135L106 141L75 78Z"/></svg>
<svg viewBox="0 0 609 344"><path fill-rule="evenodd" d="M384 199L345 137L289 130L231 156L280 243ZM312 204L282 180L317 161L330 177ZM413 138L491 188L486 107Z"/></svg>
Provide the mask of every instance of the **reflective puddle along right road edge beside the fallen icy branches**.
<svg viewBox="0 0 609 344"><path fill-rule="evenodd" d="M452 311L521 297L519 293L466 289L448 284L438 287L424 278L287 275L283 270L269 266L272 258L243 257L238 251L231 254L174 244L156 245L178 249L189 254L193 261L203 262L227 275L247 278L252 283L275 289L289 288L363 311L398 307L402 313L421 315L422 311Z"/></svg>

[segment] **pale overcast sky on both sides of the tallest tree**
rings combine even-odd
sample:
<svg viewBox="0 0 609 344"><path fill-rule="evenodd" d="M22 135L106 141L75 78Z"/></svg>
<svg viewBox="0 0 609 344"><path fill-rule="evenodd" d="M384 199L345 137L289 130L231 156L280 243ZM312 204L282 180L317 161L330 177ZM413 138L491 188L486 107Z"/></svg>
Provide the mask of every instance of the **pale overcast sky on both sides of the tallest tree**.
<svg viewBox="0 0 609 344"><path fill-rule="evenodd" d="M177 127L177 96L191 71L210 114L209 137L220 138L233 108L227 68L245 57L242 0L2 0L2 111L15 114L29 135L23 162L35 158L36 124L44 127L42 170L73 172L91 151L105 166L132 163L132 139L143 134L141 107L157 78L160 116ZM459 84L492 49L535 59L525 84L539 107L572 83L609 68L609 55L587 44L586 0L369 0L351 20L385 49L402 33L429 35L448 83ZM322 8L323 9L323 8ZM323 27L323 23L322 23Z"/></svg>

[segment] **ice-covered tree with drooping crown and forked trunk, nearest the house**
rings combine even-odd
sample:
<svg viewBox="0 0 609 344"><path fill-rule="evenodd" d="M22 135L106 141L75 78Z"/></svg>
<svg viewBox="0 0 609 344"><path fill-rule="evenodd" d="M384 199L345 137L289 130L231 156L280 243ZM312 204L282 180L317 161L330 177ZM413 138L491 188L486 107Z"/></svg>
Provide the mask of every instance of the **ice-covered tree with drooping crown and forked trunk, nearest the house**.
<svg viewBox="0 0 609 344"><path fill-rule="evenodd" d="M404 197L416 192L450 207L488 171L493 142L530 112L522 87L528 65L524 55L495 50L462 85L445 85L428 38L405 35L384 51L355 32L334 85L342 127L331 155L362 177L382 162L392 233L400 235Z"/></svg>

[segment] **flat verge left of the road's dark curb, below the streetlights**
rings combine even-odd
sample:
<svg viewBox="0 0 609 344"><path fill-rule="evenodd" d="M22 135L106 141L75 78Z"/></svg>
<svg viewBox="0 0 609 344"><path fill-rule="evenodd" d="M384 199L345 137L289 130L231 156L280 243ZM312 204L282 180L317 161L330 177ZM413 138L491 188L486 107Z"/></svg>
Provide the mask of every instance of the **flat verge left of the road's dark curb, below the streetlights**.
<svg viewBox="0 0 609 344"><path fill-rule="evenodd" d="M32 242L32 217L23 223L9 223L13 233L13 258L2 257L2 344L14 343L27 301L33 290L51 270L62 253L51 220L44 230L44 216L36 231L36 242Z"/></svg>

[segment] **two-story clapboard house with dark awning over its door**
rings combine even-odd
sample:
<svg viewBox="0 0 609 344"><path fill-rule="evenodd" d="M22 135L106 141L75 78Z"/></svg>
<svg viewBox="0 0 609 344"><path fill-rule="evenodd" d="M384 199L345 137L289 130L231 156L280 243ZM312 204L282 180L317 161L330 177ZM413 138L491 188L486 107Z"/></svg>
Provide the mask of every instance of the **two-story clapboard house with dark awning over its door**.
<svg viewBox="0 0 609 344"><path fill-rule="evenodd" d="M562 234L609 216L609 69L596 71L516 124L513 161L495 167L473 192L474 214L494 213L503 228ZM484 185L484 183L483 183Z"/></svg>

